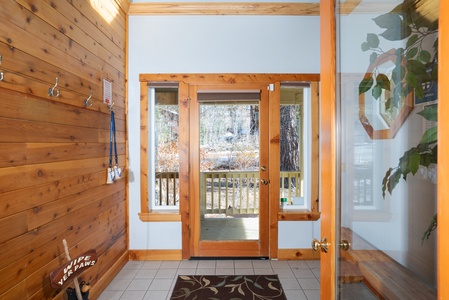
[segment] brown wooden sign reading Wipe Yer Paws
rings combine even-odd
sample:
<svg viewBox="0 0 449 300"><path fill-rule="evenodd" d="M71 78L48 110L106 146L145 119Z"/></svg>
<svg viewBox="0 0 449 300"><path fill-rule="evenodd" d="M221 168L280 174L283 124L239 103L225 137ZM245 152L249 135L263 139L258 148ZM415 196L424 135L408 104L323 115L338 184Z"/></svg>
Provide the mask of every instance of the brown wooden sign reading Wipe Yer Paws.
<svg viewBox="0 0 449 300"><path fill-rule="evenodd" d="M50 272L50 285L52 288L60 288L71 277L76 277L85 269L92 267L97 262L97 252L90 249L83 255L80 255L64 265Z"/></svg>

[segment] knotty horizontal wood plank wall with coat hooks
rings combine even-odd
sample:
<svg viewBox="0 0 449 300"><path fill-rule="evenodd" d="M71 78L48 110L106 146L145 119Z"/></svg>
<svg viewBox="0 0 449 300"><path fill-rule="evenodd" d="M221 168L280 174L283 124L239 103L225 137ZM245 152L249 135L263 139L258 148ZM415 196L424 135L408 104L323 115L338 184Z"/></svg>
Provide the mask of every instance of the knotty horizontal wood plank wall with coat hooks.
<svg viewBox="0 0 449 300"><path fill-rule="evenodd" d="M4 0L0 9L0 299L65 299L49 273L95 249L98 297L128 260L126 178L106 184L112 82L126 169L129 0ZM58 77L58 97L48 95ZM92 91L92 106L84 100ZM124 173L124 177L126 172ZM98 284L96 286L96 283Z"/></svg>

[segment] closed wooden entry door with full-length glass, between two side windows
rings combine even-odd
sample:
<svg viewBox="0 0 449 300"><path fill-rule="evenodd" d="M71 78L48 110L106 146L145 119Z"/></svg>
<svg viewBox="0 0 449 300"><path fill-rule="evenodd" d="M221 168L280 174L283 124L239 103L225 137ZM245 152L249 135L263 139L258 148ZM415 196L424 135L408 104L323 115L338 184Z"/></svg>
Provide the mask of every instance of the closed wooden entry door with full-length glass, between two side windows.
<svg viewBox="0 0 449 300"><path fill-rule="evenodd" d="M199 170L194 175L199 227L194 256L266 256L266 87L193 89L191 111L199 116L191 127L199 165L194 168Z"/></svg>

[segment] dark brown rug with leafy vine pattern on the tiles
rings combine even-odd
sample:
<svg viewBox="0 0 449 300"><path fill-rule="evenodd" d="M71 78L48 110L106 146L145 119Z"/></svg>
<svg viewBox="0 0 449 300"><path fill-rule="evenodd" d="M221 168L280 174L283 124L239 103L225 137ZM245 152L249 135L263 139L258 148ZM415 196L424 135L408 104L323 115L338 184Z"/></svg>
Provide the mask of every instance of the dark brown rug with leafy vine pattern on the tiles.
<svg viewBox="0 0 449 300"><path fill-rule="evenodd" d="M287 300L277 275L180 275L171 300Z"/></svg>

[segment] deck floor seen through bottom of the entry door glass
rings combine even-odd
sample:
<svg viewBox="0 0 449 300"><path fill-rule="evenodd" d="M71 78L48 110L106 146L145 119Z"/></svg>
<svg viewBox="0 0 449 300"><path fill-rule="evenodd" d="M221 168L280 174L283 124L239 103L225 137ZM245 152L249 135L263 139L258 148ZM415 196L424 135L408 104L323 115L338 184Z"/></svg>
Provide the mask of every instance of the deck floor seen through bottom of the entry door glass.
<svg viewBox="0 0 449 300"><path fill-rule="evenodd" d="M205 218L201 240L258 240L259 218Z"/></svg>

